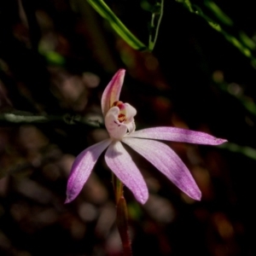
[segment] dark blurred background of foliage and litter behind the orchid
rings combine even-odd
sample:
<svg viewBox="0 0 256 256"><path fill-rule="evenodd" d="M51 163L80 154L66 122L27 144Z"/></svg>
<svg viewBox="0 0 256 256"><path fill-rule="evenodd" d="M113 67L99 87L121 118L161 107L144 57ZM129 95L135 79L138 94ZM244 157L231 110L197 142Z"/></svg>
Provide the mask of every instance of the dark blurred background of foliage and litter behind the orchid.
<svg viewBox="0 0 256 256"><path fill-rule="evenodd" d="M106 3L147 45L155 2ZM167 143L195 177L199 202L131 152L150 192L142 206L125 189L133 254L255 255L253 3L188 3L166 0L149 52L132 49L85 0L0 2L1 255L121 255L103 157L64 205L75 156L108 137L100 101L120 67L120 100L137 108L137 130L177 126L229 140Z"/></svg>

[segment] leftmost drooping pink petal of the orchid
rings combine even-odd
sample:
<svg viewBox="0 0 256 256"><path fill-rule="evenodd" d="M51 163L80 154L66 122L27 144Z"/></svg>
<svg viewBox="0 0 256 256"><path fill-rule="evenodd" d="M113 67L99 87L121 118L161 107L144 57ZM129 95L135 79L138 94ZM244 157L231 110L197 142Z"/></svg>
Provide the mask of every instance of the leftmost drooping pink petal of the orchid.
<svg viewBox="0 0 256 256"><path fill-rule="evenodd" d="M82 151L74 160L67 182L67 199L65 203L73 201L79 195L96 161L110 143L110 139L96 143Z"/></svg>

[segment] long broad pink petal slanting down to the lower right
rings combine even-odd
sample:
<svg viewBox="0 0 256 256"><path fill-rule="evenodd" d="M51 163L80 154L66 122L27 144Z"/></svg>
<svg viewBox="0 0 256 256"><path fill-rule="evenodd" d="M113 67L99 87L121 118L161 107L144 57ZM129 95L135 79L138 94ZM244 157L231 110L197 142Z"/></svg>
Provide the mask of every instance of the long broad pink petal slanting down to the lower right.
<svg viewBox="0 0 256 256"><path fill-rule="evenodd" d="M195 200L201 200L201 191L187 166L166 144L132 137L124 137L122 142L137 151L138 154L143 155L185 194Z"/></svg>

